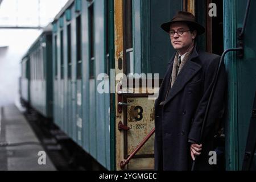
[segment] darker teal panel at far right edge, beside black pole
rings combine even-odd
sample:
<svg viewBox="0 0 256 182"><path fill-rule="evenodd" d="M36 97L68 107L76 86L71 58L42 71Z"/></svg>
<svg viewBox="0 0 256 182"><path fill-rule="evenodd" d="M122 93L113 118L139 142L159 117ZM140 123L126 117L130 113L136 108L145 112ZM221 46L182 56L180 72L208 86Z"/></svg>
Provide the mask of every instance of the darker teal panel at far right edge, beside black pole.
<svg viewBox="0 0 256 182"><path fill-rule="evenodd" d="M246 1L247 2L247 1ZM245 16L245 1L237 1L237 27L242 27ZM247 17L245 29L245 56L237 60L238 80L238 147L239 147L239 169L242 169L242 162L245 155L247 134L249 131L250 118L253 110L253 101L256 90L256 42L251 39L255 34L256 2L251 1L250 11Z"/></svg>

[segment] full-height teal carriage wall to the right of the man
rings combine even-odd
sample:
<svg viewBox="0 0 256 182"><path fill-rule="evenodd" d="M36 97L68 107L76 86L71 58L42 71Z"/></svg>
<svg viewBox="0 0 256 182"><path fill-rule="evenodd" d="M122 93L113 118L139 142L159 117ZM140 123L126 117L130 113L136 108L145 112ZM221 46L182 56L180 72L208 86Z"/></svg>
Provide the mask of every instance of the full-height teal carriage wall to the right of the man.
<svg viewBox="0 0 256 182"><path fill-rule="evenodd" d="M247 2L247 1L246 1ZM226 122L226 169L241 170L249 129L253 99L256 89L256 44L251 39L255 32L256 3L251 1L244 35L245 56L239 59L236 52L226 56L228 73L228 119ZM245 1L224 1L225 49L236 47L236 29L242 27L245 16Z"/></svg>

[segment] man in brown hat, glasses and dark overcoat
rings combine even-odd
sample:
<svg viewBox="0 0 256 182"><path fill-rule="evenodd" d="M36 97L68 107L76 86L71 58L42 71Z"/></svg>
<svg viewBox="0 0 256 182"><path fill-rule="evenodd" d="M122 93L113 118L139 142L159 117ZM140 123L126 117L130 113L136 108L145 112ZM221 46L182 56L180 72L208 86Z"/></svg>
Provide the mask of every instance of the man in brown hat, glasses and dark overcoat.
<svg viewBox="0 0 256 182"><path fill-rule="evenodd" d="M197 50L195 40L205 28L191 13L179 11L162 24L177 50L170 60L155 101L155 169L211 169L209 151L217 120L224 112L226 75L221 64L203 135L201 130L220 56Z"/></svg>

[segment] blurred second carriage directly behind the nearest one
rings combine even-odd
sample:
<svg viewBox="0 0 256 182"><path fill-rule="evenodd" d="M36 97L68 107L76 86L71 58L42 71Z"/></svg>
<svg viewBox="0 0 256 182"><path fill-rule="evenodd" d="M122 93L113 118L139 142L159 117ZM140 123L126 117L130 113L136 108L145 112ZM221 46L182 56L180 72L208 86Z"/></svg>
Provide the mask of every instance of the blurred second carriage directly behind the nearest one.
<svg viewBox="0 0 256 182"><path fill-rule="evenodd" d="M46 118L52 117L51 39L51 34L43 32L28 51L32 65L31 106Z"/></svg>

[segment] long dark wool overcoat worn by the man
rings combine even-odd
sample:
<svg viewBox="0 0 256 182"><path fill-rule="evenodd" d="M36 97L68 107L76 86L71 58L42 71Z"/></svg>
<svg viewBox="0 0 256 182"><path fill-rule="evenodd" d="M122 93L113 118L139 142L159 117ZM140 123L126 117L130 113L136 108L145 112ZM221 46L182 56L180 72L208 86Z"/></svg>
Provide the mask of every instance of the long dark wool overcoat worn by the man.
<svg viewBox="0 0 256 182"><path fill-rule="evenodd" d="M220 56L193 49L174 82L166 100L174 56L167 67L166 75L155 101L155 169L190 170L192 159L191 143L202 143L202 153L196 160L195 169L211 169L209 151L214 150L214 127L224 113L226 74L221 64L217 84L214 89L210 110L201 135L201 128L214 75ZM160 106L160 102L164 105ZM214 165L213 165L214 166Z"/></svg>

